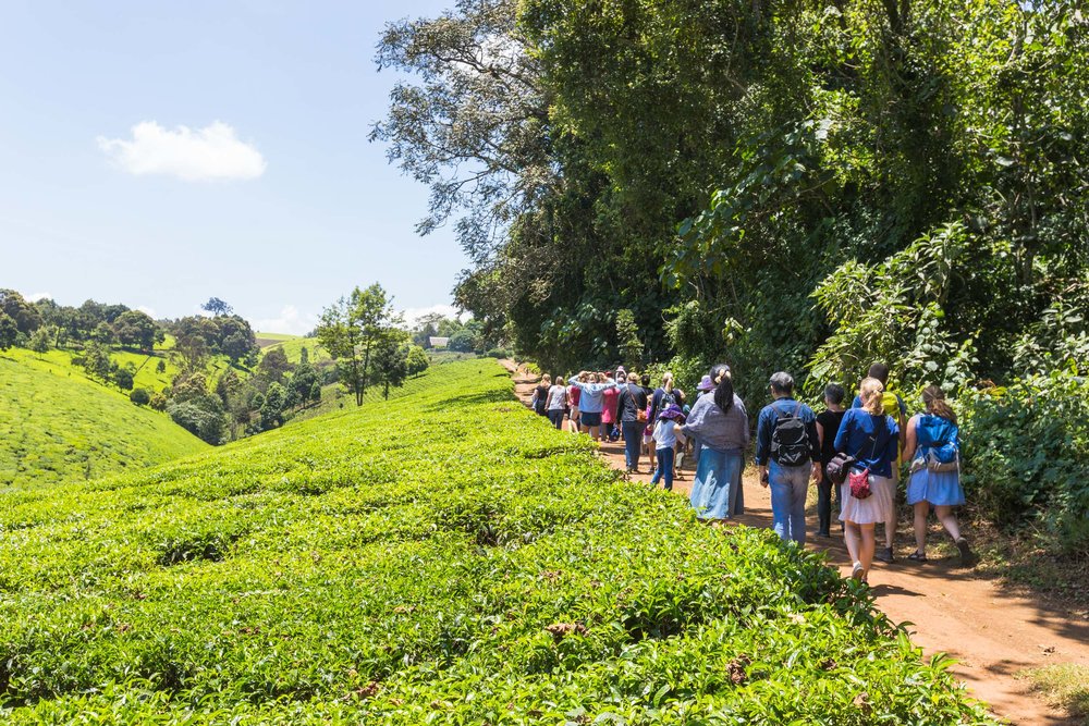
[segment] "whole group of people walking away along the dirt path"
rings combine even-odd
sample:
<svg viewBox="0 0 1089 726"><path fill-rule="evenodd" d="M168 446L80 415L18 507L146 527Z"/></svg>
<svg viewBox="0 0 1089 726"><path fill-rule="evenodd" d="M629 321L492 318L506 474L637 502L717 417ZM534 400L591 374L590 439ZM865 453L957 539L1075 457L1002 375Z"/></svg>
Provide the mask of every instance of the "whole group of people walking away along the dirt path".
<svg viewBox="0 0 1089 726"><path fill-rule="evenodd" d="M806 496L817 484L817 536L831 537L833 500L853 562L852 577L868 581L873 559L895 561L896 492L901 464L909 463L907 503L914 508L916 550L926 562L927 519L933 508L953 539L963 563L972 557L953 507L965 503L959 476L956 415L941 389L923 390L925 410L907 418L904 401L885 389L889 368L870 367L849 409L839 383L824 389L824 410L816 414L794 398L794 379L785 372L769 381L772 402L757 417L756 466L771 493L775 533L806 542ZM644 452L651 482L673 488L681 457L696 462L690 502L701 520L719 524L745 510L742 472L750 444L745 403L734 393L730 367L712 366L690 405L665 373L658 389L650 376L582 371L565 381L542 377L533 408L562 429L588 433L596 441L624 440L629 472L638 471ZM877 526L883 525L883 545Z"/></svg>

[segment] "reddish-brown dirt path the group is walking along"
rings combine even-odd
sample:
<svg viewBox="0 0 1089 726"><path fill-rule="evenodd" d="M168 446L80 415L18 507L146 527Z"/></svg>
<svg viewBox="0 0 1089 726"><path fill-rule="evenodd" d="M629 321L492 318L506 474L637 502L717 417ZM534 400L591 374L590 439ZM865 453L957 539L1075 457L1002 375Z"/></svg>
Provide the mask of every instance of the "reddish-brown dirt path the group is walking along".
<svg viewBox="0 0 1089 726"><path fill-rule="evenodd" d="M536 378L515 371L515 393L529 402ZM623 442L601 445L601 455L610 466L624 469ZM647 462L634 481L650 481ZM674 481L674 491L687 495L693 470L687 464ZM771 526L771 500L768 490L759 485L752 467L745 473L746 514L742 524L752 527ZM811 490L810 506L816 503ZM809 521L816 525L810 509ZM813 529L816 527L813 526ZM834 529L834 528L833 528ZM929 542L940 536L931 530ZM812 532L810 531L810 538ZM975 576L970 569L955 564L953 558L937 558L917 565L905 559L914 551L909 522L901 521L896 537L897 562L893 565L874 563L870 583L877 604L892 620L910 623L911 640L927 655L945 652L956 659L952 670L979 699L1014 724L1074 726L1082 723L1049 707L1032 694L1028 682L1016 678L1025 668L1060 663L1089 666L1089 622L1072 617L1066 611L1054 610L1029 594L1004 586L994 579ZM827 553L830 564L844 575L851 563L841 537L810 539L808 546Z"/></svg>

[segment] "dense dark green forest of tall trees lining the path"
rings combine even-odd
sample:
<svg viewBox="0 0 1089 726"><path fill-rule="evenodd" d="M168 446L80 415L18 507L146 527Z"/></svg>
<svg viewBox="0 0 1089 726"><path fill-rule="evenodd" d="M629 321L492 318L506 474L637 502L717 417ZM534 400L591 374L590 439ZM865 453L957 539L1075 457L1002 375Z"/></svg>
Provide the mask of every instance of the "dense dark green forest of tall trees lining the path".
<svg viewBox="0 0 1089 726"><path fill-rule="evenodd" d="M992 518L1089 547L1080 3L462 0L377 62L490 339L756 402L885 360L959 394Z"/></svg>

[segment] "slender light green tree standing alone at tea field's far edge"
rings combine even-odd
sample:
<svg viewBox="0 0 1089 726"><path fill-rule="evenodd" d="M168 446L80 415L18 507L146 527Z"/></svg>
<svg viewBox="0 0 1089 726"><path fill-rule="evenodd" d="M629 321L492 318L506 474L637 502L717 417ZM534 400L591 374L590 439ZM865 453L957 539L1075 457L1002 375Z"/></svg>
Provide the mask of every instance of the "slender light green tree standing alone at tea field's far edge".
<svg viewBox="0 0 1089 726"><path fill-rule="evenodd" d="M340 381L355 393L356 406L363 405L372 355L387 341L400 341L401 324L392 299L378 283L356 287L322 311L318 340L337 360Z"/></svg>

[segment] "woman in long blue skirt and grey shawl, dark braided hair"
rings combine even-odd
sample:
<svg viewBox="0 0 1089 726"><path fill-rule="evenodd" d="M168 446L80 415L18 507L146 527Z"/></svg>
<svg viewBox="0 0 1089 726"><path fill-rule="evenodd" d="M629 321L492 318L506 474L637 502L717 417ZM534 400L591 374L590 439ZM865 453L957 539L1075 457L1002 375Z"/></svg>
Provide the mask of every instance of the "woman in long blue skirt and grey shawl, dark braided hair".
<svg viewBox="0 0 1089 726"><path fill-rule="evenodd" d="M745 512L741 483L749 428L744 403L734 394L730 367L718 364L708 374L714 392L696 401L681 433L700 441L689 502L697 517L713 522Z"/></svg>

